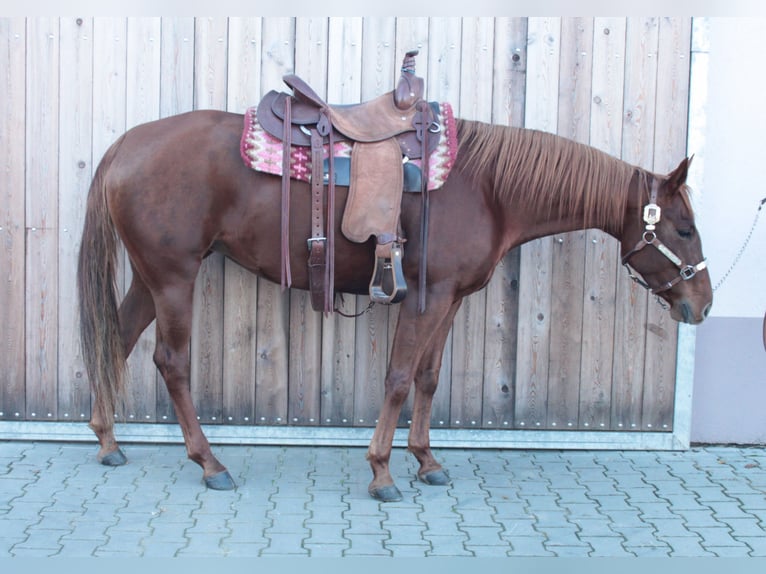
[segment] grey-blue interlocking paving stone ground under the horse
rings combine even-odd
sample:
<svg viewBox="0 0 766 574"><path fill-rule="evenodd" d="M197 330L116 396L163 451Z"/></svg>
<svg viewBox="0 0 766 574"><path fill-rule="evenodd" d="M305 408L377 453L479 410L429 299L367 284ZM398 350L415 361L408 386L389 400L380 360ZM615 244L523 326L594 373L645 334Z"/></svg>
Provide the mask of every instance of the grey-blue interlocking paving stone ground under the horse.
<svg viewBox="0 0 766 574"><path fill-rule="evenodd" d="M766 557L766 449L437 452L447 487L367 494L357 447L218 446L238 483L206 490L182 445L0 442L11 557Z"/></svg>

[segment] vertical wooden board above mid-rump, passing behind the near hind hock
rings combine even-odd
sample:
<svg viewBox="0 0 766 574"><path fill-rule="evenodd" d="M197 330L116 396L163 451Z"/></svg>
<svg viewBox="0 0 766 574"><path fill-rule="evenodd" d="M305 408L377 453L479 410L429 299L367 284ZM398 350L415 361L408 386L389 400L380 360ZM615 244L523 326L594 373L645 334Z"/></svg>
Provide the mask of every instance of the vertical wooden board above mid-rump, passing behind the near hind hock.
<svg viewBox="0 0 766 574"><path fill-rule="evenodd" d="M194 108L194 18L163 17L161 25L160 116L168 117ZM155 323L151 329L156 331ZM174 422L173 402L162 377L158 381L157 419Z"/></svg>

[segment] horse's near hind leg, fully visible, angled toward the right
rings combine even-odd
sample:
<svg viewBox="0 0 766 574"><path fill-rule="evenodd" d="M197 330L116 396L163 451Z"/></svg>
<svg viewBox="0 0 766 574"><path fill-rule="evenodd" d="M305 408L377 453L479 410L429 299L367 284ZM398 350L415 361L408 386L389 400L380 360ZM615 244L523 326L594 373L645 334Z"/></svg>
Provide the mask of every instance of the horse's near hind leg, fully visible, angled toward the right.
<svg viewBox="0 0 766 574"><path fill-rule="evenodd" d="M157 347L154 362L165 379L183 432L186 451L202 467L205 484L215 490L235 488L234 480L210 449L189 390L194 282L164 288L155 295Z"/></svg>

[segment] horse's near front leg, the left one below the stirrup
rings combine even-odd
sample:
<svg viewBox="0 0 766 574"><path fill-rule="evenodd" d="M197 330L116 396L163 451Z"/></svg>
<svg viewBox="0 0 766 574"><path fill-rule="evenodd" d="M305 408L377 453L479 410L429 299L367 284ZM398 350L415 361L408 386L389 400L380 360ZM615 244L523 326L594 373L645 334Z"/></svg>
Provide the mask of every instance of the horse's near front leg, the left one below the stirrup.
<svg viewBox="0 0 766 574"><path fill-rule="evenodd" d="M429 299L428 311L422 315L418 314L416 305L417 296L408 296L402 303L386 375L383 407L367 451L373 474L368 491L373 498L383 502L402 498L389 469L396 424L412 386L416 366L437 327L450 311L449 302L437 297Z"/></svg>

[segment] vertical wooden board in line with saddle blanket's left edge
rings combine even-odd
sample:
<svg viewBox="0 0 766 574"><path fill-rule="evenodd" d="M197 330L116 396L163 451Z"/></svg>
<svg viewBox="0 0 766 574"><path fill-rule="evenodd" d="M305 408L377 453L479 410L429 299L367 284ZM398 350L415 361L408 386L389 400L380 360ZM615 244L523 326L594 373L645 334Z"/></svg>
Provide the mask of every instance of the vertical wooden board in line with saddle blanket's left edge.
<svg viewBox="0 0 766 574"><path fill-rule="evenodd" d="M261 18L230 18L227 53L228 111L243 113L261 91ZM255 419L258 280L226 259L223 297L223 419L253 424Z"/></svg>

